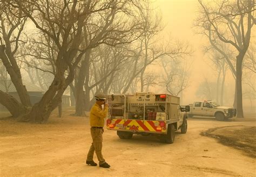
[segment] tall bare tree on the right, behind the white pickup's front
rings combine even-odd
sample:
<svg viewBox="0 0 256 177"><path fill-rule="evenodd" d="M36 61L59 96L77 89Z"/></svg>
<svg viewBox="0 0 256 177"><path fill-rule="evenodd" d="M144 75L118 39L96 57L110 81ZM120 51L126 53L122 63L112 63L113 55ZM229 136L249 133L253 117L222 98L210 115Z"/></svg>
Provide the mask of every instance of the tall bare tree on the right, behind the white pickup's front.
<svg viewBox="0 0 256 177"><path fill-rule="evenodd" d="M251 30L255 24L253 13L254 0L250 1L218 1L214 5L201 5L199 26L207 29L217 37L219 42L232 45L238 52L236 57L236 88L237 88L237 117L244 117L242 111L242 62L251 39Z"/></svg>

